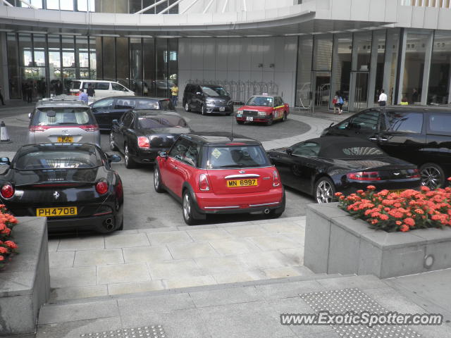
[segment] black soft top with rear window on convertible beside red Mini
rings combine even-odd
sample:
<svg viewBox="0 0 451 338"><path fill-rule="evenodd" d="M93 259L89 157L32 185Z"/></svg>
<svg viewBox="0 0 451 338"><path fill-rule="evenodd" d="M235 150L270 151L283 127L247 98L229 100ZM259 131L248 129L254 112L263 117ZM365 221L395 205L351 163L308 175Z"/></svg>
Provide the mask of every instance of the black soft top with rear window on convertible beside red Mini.
<svg viewBox="0 0 451 338"><path fill-rule="evenodd" d="M383 157L386 154L371 144L329 144L322 146L320 157L326 158L372 158Z"/></svg>

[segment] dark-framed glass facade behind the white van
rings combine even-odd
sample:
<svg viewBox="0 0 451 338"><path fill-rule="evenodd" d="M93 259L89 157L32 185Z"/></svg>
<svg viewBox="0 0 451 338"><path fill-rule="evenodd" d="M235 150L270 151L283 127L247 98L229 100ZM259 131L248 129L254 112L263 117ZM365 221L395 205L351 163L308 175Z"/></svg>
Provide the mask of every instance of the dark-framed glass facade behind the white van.
<svg viewBox="0 0 451 338"><path fill-rule="evenodd" d="M68 93L75 79L113 80L137 95L168 97L178 77L178 40L6 34L10 99Z"/></svg>

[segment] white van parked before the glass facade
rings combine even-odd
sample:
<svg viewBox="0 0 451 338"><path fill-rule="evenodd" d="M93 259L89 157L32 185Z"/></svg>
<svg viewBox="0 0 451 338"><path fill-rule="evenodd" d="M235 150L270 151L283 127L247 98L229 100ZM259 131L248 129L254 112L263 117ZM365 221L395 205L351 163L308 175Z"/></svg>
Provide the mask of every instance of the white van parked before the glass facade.
<svg viewBox="0 0 451 338"><path fill-rule="evenodd" d="M109 96L135 95L134 92L124 87L122 84L108 80L73 80L70 83L70 95L78 95L80 89L84 89L84 92L87 93L87 87L89 84L91 84L95 91L94 100Z"/></svg>

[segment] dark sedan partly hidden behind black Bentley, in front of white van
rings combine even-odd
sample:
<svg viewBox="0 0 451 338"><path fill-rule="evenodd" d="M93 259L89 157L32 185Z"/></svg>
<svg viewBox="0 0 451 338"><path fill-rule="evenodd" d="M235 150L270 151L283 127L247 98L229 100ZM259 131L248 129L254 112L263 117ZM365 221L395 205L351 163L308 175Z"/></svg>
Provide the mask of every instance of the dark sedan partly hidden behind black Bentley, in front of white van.
<svg viewBox="0 0 451 338"><path fill-rule="evenodd" d="M124 113L134 110L175 111L170 99L147 96L114 96L100 99L91 104L92 113L100 130L110 131L113 120L119 120Z"/></svg>

